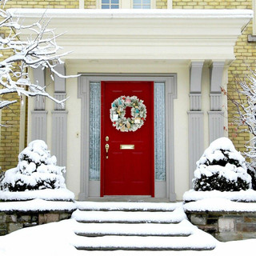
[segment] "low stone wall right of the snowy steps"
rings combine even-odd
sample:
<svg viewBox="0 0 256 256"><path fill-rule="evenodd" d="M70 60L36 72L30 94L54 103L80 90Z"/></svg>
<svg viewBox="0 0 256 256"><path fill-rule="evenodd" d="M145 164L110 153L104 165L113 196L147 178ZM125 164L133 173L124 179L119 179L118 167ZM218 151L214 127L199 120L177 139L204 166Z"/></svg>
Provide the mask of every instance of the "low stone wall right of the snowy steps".
<svg viewBox="0 0 256 256"><path fill-rule="evenodd" d="M256 212L196 212L186 211L190 222L227 242L256 238Z"/></svg>

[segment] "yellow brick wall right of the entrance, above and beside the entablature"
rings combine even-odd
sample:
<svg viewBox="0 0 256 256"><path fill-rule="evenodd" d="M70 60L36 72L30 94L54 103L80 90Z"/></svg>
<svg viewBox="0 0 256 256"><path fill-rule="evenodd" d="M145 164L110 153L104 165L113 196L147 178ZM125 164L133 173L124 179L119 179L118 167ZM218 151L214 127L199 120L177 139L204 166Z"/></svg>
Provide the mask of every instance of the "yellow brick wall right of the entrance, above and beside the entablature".
<svg viewBox="0 0 256 256"><path fill-rule="evenodd" d="M174 9L252 9L252 0L173 0ZM247 36L252 34L252 22L243 31L242 36L238 38L234 46L234 54L236 60L232 62L229 69L228 94L232 98L238 99L238 94L234 92L234 76L239 75L243 78L250 71L255 70L256 61L256 44L248 43ZM236 107L228 101L228 122L229 122L229 137L234 142L237 150L245 151L244 144L250 139L250 135L242 133L241 130L245 127L236 129L234 116L237 115Z"/></svg>

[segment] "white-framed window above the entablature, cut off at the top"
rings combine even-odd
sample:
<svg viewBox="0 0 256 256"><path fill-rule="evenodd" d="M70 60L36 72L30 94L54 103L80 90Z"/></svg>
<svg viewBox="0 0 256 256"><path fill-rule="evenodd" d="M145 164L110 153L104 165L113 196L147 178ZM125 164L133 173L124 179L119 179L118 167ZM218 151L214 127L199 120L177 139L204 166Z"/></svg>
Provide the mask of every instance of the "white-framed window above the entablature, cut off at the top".
<svg viewBox="0 0 256 256"><path fill-rule="evenodd" d="M156 0L97 0L99 9L155 9Z"/></svg>

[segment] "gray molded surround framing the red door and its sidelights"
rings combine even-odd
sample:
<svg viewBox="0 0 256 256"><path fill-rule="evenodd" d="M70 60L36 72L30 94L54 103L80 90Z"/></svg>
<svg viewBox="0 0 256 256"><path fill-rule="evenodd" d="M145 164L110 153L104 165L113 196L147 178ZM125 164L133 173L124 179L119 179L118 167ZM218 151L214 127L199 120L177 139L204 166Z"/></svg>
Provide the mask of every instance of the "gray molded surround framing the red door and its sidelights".
<svg viewBox="0 0 256 256"><path fill-rule="evenodd" d="M166 181L155 181L155 198L176 200L174 190L174 99L177 98L177 74L81 74L78 98L81 98L81 163L78 200L100 198L100 181L89 179L90 82L154 81L166 86ZM122 198L122 197L118 197Z"/></svg>

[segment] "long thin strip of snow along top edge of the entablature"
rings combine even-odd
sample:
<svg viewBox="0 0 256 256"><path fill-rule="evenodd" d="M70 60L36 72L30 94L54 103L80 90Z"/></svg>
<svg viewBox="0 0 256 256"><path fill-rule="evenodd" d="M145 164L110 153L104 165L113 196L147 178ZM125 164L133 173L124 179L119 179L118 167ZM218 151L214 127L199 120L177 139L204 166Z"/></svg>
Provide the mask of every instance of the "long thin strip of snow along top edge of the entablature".
<svg viewBox="0 0 256 256"><path fill-rule="evenodd" d="M136 9L9 9L14 17L63 17L68 18L252 18L252 10L136 10Z"/></svg>

